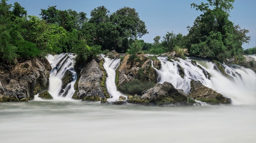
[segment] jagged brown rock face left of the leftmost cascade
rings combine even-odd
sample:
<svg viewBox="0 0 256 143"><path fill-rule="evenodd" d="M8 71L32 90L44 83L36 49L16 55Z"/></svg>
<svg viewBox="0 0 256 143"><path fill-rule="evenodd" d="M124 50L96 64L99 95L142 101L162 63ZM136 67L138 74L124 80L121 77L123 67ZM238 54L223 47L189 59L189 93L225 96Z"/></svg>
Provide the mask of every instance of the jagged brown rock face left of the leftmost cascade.
<svg viewBox="0 0 256 143"><path fill-rule="evenodd" d="M45 58L32 58L15 65L1 65L0 102L34 99L38 91L47 89L51 65Z"/></svg>

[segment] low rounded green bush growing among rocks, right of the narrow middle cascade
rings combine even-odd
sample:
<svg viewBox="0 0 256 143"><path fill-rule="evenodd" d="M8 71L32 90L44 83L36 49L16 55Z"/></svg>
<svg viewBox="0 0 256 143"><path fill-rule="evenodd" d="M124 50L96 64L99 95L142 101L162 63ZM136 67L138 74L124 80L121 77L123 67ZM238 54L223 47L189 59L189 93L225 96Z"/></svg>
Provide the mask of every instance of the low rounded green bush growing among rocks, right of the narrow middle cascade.
<svg viewBox="0 0 256 143"><path fill-rule="evenodd" d="M134 79L131 82L127 82L123 86L120 86L119 90L131 95L141 95L142 91L150 89L154 86L155 84L153 82L142 83L141 81Z"/></svg>

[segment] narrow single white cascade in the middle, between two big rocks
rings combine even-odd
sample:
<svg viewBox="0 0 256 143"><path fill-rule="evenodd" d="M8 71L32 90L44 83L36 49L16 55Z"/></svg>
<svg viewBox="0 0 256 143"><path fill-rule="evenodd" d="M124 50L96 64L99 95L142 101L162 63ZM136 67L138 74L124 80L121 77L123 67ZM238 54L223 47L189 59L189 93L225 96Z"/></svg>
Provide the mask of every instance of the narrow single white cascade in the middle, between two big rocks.
<svg viewBox="0 0 256 143"><path fill-rule="evenodd" d="M104 57L104 55L102 55L102 57L104 58L103 67L108 74L108 77L106 79L106 87L111 97L111 98L108 98L108 101L110 102L118 101L120 95L125 96L123 93L117 91L117 86L115 85L115 78L116 78L115 70L119 66L121 59L114 59L114 58L110 59L108 57Z"/></svg>

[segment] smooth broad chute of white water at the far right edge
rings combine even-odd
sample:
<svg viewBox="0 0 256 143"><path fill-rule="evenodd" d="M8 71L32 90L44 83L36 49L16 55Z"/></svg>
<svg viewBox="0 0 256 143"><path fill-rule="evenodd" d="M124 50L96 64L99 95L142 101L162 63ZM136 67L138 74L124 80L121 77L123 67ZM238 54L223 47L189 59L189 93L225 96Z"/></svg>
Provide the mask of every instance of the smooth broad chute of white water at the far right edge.
<svg viewBox="0 0 256 143"><path fill-rule="evenodd" d="M256 104L256 73L238 65L225 67L229 77L215 69L215 64L202 60L198 65L204 67L211 74L211 84L205 85L218 93L231 98L232 104Z"/></svg>

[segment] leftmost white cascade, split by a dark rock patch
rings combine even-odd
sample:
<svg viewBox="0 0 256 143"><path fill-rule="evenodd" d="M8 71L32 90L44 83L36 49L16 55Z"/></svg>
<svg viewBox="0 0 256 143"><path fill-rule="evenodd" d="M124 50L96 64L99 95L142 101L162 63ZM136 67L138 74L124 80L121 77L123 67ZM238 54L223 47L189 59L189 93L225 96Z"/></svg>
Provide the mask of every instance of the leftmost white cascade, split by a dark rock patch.
<svg viewBox="0 0 256 143"><path fill-rule="evenodd" d="M52 66L49 76L49 89L48 92L52 95L54 100L58 99L71 99L75 89L74 84L77 79L77 74L74 69L74 57L72 53L63 53L59 55L48 55L47 60ZM70 72L70 82L63 87L63 77L67 72Z"/></svg>

